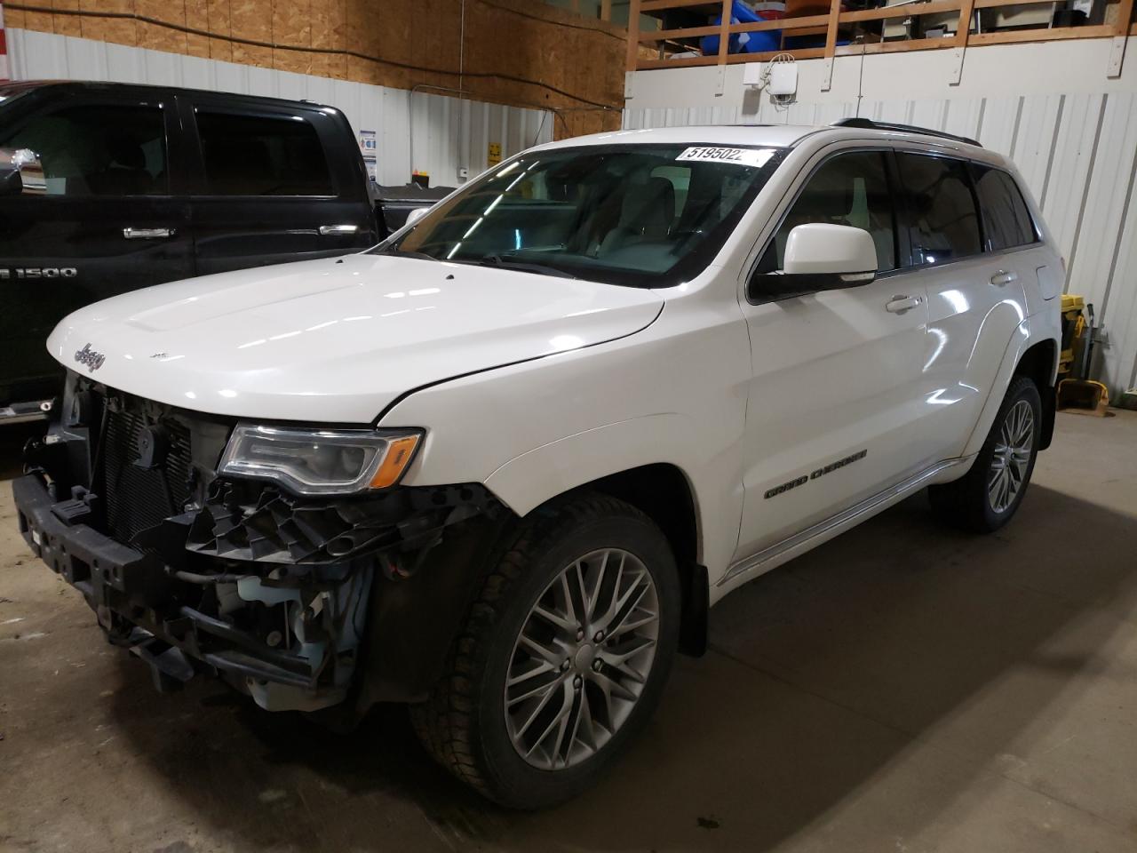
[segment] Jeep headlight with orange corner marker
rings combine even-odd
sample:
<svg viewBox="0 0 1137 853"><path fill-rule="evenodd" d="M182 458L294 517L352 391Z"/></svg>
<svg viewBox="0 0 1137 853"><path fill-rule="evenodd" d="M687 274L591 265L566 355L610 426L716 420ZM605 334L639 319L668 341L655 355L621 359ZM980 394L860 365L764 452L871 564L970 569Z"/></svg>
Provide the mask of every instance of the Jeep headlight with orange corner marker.
<svg viewBox="0 0 1137 853"><path fill-rule="evenodd" d="M273 480L299 495L350 495L393 486L418 430L301 430L240 424L218 473Z"/></svg>

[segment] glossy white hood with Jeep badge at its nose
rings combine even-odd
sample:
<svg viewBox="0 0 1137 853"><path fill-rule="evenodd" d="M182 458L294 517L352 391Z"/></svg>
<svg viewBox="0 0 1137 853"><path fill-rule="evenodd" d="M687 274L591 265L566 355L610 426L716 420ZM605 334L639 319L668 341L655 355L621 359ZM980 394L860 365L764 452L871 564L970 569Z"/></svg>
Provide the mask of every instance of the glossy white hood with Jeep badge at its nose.
<svg viewBox="0 0 1137 853"><path fill-rule="evenodd" d="M650 290L350 255L124 293L66 317L48 349L183 408L368 423L424 384L621 338L662 306Z"/></svg>

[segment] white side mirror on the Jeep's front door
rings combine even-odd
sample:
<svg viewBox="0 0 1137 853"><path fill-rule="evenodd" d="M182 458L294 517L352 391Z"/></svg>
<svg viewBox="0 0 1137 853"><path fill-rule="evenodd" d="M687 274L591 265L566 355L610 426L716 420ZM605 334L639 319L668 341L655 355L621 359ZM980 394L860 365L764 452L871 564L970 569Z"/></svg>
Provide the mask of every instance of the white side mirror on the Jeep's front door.
<svg viewBox="0 0 1137 853"><path fill-rule="evenodd" d="M782 267L756 273L748 288L750 299L773 301L868 284L877 276L877 247L864 229L807 223L789 232Z"/></svg>

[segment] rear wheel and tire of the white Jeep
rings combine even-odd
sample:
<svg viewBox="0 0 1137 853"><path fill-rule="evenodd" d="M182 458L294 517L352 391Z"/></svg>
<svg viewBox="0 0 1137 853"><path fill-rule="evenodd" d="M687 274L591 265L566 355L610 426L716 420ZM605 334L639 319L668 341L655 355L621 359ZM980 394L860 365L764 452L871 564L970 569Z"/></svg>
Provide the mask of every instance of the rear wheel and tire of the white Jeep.
<svg viewBox="0 0 1137 853"><path fill-rule="evenodd" d="M1030 483L1041 422L1038 387L1027 376L1015 379L971 470L955 482L928 489L937 514L979 533L1006 524Z"/></svg>

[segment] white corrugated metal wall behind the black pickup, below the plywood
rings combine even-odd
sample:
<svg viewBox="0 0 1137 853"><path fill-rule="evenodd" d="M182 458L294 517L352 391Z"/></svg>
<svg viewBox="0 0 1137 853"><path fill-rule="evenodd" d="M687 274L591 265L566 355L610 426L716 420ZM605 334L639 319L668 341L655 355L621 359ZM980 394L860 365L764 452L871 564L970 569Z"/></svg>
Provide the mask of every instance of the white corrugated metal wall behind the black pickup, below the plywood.
<svg viewBox="0 0 1137 853"><path fill-rule="evenodd" d="M375 131L380 183L410 180L412 167L434 185L455 185L458 168L473 177L491 142L509 156L553 139L553 116L539 109L458 100L429 92L258 68L67 35L9 30L14 80L107 80L307 99L338 107L358 133ZM414 163L412 163L412 146Z"/></svg>

